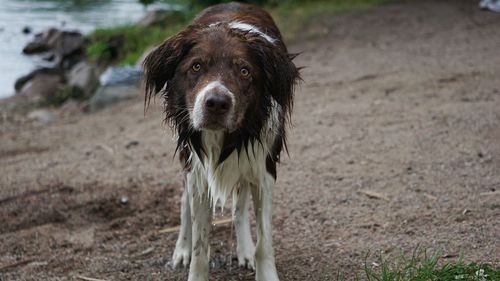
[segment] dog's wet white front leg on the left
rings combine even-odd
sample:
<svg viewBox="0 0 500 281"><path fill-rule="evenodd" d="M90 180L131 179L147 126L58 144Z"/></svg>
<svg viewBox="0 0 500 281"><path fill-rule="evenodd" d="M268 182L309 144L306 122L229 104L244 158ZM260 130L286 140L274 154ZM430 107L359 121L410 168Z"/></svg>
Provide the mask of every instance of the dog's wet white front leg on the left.
<svg viewBox="0 0 500 281"><path fill-rule="evenodd" d="M210 200L208 200L208 191L204 190L204 193L200 194L197 186L189 184L191 181L194 179L188 175L193 241L188 281L208 281L208 238L212 210ZM196 182L196 184L203 184L206 187L206 183Z"/></svg>

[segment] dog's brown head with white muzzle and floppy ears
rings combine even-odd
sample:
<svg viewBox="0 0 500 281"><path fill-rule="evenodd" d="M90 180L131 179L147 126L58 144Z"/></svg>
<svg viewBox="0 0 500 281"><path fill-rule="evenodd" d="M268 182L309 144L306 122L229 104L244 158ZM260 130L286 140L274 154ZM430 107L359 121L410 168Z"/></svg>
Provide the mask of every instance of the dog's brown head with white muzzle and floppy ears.
<svg viewBox="0 0 500 281"><path fill-rule="evenodd" d="M273 106L286 115L298 78L279 38L231 23L188 26L152 51L144 70L146 103L163 92L175 127L227 133L245 127L255 135Z"/></svg>

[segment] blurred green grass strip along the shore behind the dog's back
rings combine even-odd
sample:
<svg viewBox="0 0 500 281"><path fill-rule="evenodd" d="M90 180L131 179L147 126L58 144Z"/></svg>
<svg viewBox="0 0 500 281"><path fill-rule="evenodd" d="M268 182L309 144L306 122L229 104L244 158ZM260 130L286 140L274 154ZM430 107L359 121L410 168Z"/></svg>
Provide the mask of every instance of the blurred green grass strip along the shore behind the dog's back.
<svg viewBox="0 0 500 281"><path fill-rule="evenodd" d="M87 47L89 59L100 63L135 64L148 48L158 45L188 24L206 4L227 2L220 0L188 1L189 11L180 17L173 13L165 22L150 26L127 25L97 29L90 35ZM300 30L310 26L313 20L337 12L359 10L388 2L388 0L249 0L264 4L271 12L287 41L297 38ZM306 30L310 36L325 31ZM328 32L328 31L326 31Z"/></svg>

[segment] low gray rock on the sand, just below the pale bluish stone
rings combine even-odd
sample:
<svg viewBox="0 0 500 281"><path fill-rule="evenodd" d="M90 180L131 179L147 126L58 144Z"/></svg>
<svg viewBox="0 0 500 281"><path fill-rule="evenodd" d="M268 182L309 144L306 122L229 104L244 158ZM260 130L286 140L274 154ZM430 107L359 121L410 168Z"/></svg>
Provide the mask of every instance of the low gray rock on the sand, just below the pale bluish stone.
<svg viewBox="0 0 500 281"><path fill-rule="evenodd" d="M90 99L89 110L96 112L120 101L136 98L139 94L139 87L135 85L102 86Z"/></svg>

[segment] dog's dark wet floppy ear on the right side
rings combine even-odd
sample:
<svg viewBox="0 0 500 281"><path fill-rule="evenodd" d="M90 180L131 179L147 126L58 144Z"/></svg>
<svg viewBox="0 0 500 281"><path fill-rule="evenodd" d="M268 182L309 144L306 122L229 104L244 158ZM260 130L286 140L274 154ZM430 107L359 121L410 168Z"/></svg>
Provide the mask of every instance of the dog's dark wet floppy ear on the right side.
<svg viewBox="0 0 500 281"><path fill-rule="evenodd" d="M259 63L264 91L276 100L286 116L293 106L293 91L300 80L300 69L292 61L296 55L289 54L280 41L271 43L253 34L247 34L246 37Z"/></svg>

